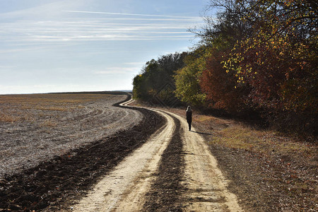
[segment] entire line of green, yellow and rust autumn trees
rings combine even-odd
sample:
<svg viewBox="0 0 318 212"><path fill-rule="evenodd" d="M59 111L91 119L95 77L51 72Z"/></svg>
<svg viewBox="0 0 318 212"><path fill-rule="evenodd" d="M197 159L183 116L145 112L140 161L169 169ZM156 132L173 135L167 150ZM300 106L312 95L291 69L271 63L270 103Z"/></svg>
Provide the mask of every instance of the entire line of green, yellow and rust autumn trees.
<svg viewBox="0 0 318 212"><path fill-rule="evenodd" d="M309 0L211 0L206 25L192 29L199 44L147 62L134 78L134 98L173 96L317 135L317 6ZM215 9L217 16L209 16Z"/></svg>

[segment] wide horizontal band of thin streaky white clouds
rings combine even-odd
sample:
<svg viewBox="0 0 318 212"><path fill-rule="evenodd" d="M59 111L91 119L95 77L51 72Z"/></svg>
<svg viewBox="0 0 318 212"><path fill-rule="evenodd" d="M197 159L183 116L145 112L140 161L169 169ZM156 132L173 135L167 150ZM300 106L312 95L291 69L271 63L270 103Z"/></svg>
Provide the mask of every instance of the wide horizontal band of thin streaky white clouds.
<svg viewBox="0 0 318 212"><path fill-rule="evenodd" d="M1 24L0 38L6 42L61 42L93 40L189 39L190 25L184 23L104 23L105 20L17 21Z"/></svg>

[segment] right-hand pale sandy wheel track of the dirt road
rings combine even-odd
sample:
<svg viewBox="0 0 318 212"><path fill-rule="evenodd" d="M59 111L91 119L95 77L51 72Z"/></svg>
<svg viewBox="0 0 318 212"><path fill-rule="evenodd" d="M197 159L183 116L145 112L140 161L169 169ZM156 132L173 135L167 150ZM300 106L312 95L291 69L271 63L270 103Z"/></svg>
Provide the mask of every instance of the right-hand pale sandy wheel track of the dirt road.
<svg viewBox="0 0 318 212"><path fill-rule="evenodd" d="M228 180L218 169L204 139L192 127L188 131L187 121L176 114L169 113L180 120L184 129L184 211L242 211L237 197L228 191Z"/></svg>

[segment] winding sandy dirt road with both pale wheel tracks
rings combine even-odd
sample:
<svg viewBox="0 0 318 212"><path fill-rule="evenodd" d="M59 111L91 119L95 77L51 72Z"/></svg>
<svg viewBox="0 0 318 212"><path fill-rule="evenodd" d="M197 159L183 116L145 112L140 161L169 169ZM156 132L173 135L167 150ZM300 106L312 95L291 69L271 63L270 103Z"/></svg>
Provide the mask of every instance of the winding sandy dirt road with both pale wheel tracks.
<svg viewBox="0 0 318 212"><path fill-rule="evenodd" d="M127 104L129 102L123 105ZM73 205L71 210L165 211L167 208L176 208L173 204L181 204L175 211L242 211L235 194L227 189L228 180L218 169L216 159L196 129L188 131L186 120L176 114L152 110L165 117L166 124L110 174L102 177L92 191ZM182 141L182 148L173 154L181 156L183 163L177 166L183 167L162 171L160 164L165 165L162 155L169 157L167 150L170 148L173 151L175 146L171 144L177 140ZM175 169L179 172L175 175L179 179L165 176ZM165 188L163 184L166 183L163 181L158 189L155 184L160 179L176 181L181 188L172 186L170 182L167 182ZM171 192L174 189L176 192ZM169 201L170 194L175 195L175 203ZM158 202L165 204L164 207L161 205L165 210L160 209Z"/></svg>

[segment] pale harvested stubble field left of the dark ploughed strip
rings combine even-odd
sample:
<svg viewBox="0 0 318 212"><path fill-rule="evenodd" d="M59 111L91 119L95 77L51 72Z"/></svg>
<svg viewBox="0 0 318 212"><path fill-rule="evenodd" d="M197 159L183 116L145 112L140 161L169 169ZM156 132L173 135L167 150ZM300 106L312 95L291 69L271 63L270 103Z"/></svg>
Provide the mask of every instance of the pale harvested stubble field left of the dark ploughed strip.
<svg viewBox="0 0 318 212"><path fill-rule="evenodd" d="M126 95L0 95L0 179L138 124Z"/></svg>

